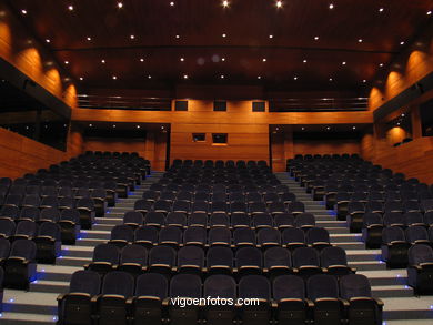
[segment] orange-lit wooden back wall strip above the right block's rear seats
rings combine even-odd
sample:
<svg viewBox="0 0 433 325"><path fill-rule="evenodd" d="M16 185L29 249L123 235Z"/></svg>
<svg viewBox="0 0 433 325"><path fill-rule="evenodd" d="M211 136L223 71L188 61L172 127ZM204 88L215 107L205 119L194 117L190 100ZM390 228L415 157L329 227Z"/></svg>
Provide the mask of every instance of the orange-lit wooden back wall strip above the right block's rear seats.
<svg viewBox="0 0 433 325"><path fill-rule="evenodd" d="M294 154L361 153L358 140L294 140Z"/></svg>

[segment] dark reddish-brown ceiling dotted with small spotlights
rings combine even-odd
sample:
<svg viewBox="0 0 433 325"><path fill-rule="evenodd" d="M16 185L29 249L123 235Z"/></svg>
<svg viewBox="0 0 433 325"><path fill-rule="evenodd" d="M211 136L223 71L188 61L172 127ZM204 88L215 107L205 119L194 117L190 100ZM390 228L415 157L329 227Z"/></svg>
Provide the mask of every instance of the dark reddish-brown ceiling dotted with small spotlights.
<svg viewBox="0 0 433 325"><path fill-rule="evenodd" d="M81 90L191 83L362 91L433 17L432 0L8 2Z"/></svg>

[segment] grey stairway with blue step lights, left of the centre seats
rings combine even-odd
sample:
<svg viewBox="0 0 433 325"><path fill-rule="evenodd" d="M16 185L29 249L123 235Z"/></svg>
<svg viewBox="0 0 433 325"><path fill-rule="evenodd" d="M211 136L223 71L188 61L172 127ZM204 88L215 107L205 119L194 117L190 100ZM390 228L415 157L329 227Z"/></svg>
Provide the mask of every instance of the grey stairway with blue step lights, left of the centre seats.
<svg viewBox="0 0 433 325"><path fill-rule="evenodd" d="M133 209L142 193L162 176L162 172L152 172L128 199L119 199L114 207L105 211L104 217L97 217L92 230L80 233L75 245L62 245L62 253L56 265L38 264L37 280L30 284L29 292L4 290L1 325L52 325L57 322L57 297L69 290L73 272L82 270L91 262L93 248L110 238L111 228L122 224L123 214Z"/></svg>

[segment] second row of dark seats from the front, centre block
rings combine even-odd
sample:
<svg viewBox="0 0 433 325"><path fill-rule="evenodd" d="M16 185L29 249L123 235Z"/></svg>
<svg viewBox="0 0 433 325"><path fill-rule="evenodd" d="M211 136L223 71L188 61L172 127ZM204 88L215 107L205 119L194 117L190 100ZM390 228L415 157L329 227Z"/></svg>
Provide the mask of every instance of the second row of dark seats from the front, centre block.
<svg viewBox="0 0 433 325"><path fill-rule="evenodd" d="M175 251L169 245L145 248L140 244L119 246L107 243L95 246L92 262L84 266L101 274L125 271L133 275L155 272L171 276L190 273L209 276L212 274L234 274L239 278L249 274L265 274L275 277L281 274L298 274L304 278L326 273L342 276L355 273L348 266L344 250L325 246L322 251L300 246L293 252L272 246L264 253L261 250L242 245L233 251L228 246L212 246L209 250L197 245L183 246Z"/></svg>

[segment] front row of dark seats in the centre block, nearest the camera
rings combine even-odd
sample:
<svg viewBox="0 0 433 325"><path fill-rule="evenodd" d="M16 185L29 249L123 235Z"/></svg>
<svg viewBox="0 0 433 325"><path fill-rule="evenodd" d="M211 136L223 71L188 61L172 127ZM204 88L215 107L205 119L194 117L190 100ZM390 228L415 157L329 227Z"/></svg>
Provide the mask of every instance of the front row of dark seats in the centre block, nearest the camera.
<svg viewBox="0 0 433 325"><path fill-rule="evenodd" d="M93 318L107 325L382 324L383 308L381 301L372 298L363 275L340 281L315 275L306 283L294 275L272 282L249 275L236 284L229 275L212 275L202 283L192 274L179 274L169 282L158 273L134 281L127 273L112 272L101 284L97 273L79 271L72 275L69 293L58 301L61 324L89 324Z"/></svg>

